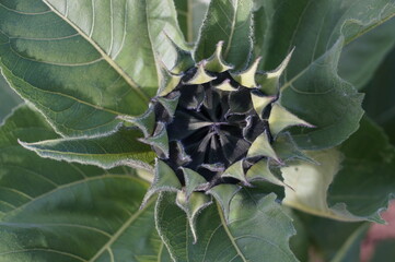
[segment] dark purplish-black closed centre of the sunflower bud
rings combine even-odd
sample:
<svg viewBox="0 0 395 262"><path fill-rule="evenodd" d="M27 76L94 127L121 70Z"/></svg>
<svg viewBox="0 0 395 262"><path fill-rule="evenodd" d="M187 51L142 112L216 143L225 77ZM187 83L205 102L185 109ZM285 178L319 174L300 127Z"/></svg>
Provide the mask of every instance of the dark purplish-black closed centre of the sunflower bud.
<svg viewBox="0 0 395 262"><path fill-rule="evenodd" d="M221 174L246 157L259 134L270 132L267 121L263 120L265 117L259 118L254 110L251 98L251 92L263 94L241 86L228 71L210 73L216 79L208 83L184 84L195 72L196 68L190 69L170 94L179 94L179 99L174 117L166 126L170 157L165 162L182 181L179 167L199 172L212 186L232 182L230 178L221 178ZM221 90L222 84L226 84L228 90ZM268 115L269 110L270 107L263 115Z"/></svg>

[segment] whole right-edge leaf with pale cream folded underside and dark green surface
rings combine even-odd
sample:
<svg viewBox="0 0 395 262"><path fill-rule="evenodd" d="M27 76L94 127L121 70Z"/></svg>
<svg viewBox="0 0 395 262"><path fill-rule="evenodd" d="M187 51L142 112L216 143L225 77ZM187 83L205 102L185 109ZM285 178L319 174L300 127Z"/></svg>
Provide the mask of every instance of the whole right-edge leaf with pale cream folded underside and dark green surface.
<svg viewBox="0 0 395 262"><path fill-rule="evenodd" d="M337 150L310 153L320 165L300 163L282 168L283 203L340 221L382 223L380 212L395 193L395 150L368 119ZM344 159L344 160L342 160ZM330 186L330 188L329 188Z"/></svg>

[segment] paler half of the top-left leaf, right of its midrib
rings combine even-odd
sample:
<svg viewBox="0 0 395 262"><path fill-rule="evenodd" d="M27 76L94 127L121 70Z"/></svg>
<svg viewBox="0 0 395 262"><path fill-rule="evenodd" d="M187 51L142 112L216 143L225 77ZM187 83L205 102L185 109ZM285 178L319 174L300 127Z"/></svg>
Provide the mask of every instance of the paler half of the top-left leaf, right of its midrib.
<svg viewBox="0 0 395 262"><path fill-rule="evenodd" d="M184 46L173 0L44 2L96 43L140 86L156 84L154 52L169 68L174 66L176 50L167 36Z"/></svg>

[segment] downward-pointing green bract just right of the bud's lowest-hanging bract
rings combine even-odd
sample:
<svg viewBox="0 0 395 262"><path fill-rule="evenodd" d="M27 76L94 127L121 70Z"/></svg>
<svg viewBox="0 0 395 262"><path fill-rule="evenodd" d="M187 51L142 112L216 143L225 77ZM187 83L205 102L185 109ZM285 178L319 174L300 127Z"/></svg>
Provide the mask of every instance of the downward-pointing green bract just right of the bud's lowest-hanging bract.
<svg viewBox="0 0 395 262"><path fill-rule="evenodd" d="M229 222L229 213L231 207L231 201L233 196L241 190L241 187L231 183L222 183L211 188L207 193L214 196L218 203L221 205L223 216Z"/></svg>

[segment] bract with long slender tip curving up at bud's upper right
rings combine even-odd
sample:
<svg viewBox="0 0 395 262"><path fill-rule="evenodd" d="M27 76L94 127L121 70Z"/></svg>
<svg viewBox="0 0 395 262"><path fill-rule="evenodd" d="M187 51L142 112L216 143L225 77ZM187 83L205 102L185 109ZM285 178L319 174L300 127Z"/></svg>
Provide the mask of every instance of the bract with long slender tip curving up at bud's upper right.
<svg viewBox="0 0 395 262"><path fill-rule="evenodd" d="M294 48L288 53L281 64L274 71L265 72L257 75L257 83L260 85L260 90L267 95L276 95L279 93L280 76L286 70L289 61L291 60Z"/></svg>

